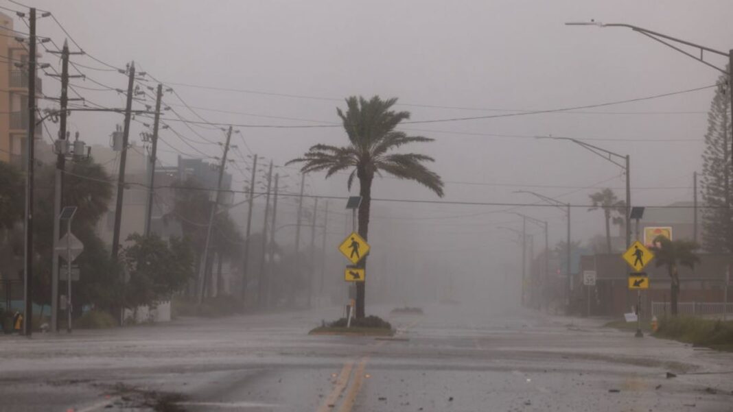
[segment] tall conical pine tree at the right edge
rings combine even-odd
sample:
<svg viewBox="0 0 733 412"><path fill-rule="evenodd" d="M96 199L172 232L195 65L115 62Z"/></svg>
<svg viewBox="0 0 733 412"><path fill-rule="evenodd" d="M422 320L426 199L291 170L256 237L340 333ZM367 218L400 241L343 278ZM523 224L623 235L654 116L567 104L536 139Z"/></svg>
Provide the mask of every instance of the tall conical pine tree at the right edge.
<svg viewBox="0 0 733 412"><path fill-rule="evenodd" d="M727 75L718 78L718 88L707 113L705 150L702 154L701 194L703 209L702 242L712 253L733 252L731 201L731 112Z"/></svg>

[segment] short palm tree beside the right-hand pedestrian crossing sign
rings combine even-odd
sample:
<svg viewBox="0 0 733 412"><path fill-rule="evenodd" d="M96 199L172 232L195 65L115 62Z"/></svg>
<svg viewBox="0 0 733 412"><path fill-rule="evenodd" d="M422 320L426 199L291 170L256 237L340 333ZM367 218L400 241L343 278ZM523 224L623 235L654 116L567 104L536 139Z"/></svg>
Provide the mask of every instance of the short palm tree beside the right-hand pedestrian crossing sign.
<svg viewBox="0 0 733 412"><path fill-rule="evenodd" d="M700 258L695 254L699 244L690 240L669 240L666 236L657 236L654 239L652 251L655 254L655 264L667 266L667 272L671 280L671 312L677 316L677 296L679 295L679 265L693 268L699 263Z"/></svg>

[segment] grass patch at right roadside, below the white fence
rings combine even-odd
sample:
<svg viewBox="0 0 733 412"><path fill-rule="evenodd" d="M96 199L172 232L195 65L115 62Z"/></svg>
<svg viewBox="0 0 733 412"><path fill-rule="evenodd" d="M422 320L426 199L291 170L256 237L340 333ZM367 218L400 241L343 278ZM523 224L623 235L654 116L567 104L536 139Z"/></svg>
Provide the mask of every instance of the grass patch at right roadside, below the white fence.
<svg viewBox="0 0 733 412"><path fill-rule="evenodd" d="M661 318L656 337L679 340L721 351L733 350L733 321L668 316Z"/></svg>

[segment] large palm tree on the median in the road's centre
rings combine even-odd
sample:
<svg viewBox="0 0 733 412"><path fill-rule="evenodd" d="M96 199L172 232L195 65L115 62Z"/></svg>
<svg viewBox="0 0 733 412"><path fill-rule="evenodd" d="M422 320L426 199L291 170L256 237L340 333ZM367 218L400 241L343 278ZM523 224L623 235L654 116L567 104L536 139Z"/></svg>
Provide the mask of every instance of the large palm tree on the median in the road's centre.
<svg viewBox="0 0 733 412"><path fill-rule="evenodd" d="M423 136L408 136L395 128L403 120L410 119L410 112L393 111L397 99L381 100L378 96L370 100L352 96L346 99L347 110L336 109L346 131L347 146L317 144L303 157L290 160L288 164L301 162L302 173L325 171L325 177L353 169L347 180L351 190L354 178L359 180L361 205L358 210L358 233L367 239L369 232L369 207L372 201L372 181L375 174L386 172L399 179L408 179L424 185L443 197L443 180L430 171L424 163L434 162L432 157L416 153L390 153L407 143L433 141ZM366 266L366 258L359 266ZM356 317L364 317L364 282L356 284Z"/></svg>

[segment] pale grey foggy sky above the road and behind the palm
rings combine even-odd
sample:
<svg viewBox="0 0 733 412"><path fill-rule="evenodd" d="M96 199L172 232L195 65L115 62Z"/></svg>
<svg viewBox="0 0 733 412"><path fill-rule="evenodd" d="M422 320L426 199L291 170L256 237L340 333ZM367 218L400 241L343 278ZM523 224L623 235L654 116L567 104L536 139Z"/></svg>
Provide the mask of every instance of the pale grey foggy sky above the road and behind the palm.
<svg viewBox="0 0 733 412"><path fill-rule="evenodd" d="M627 29L565 26L596 19L630 23L675 37L728 50L733 26L730 1L48 1L50 10L78 45L96 59L125 67L135 61L174 94L164 102L185 119L235 124L237 144L229 168L233 190L248 179L248 154L273 160L298 192L297 168L284 166L316 143L347 143L341 127L279 128L267 125L339 124L336 108L345 97L397 97L411 120L492 116L522 111L572 108L668 94L710 86L719 73ZM20 24L20 26L18 26ZM25 28L16 23L16 28ZM52 20L40 19L38 34L63 39ZM77 50L70 42L72 50ZM42 60L59 60L41 49ZM693 53L696 53L693 51ZM719 66L723 59L709 56ZM89 57L73 61L103 65ZM125 75L88 70L73 84L89 102L122 108L122 94L92 82L125 89ZM152 76L152 77L150 77ZM44 93L59 94L59 83L44 78ZM186 86L188 85L188 86ZM193 86L191 86L193 85ZM570 141L577 138L630 155L633 206L692 201L693 171L701 168L707 110L714 89L703 89L619 105L555 113L495 117L400 127L433 143L410 145L435 158L431 168L445 181L445 196L388 175L375 179L369 242L367 304L389 301L471 301L519 304L521 247L516 233L522 219L513 212L548 222L550 249L564 241L564 211L542 203L531 190L572 203L572 240L586 246L605 236L602 211L587 211L589 194L610 187L624 198L621 168ZM48 103L44 103L48 104ZM136 103L152 104L152 100ZM47 107L51 107L50 105ZM172 111L165 119L194 143L169 130L161 132L163 165L177 156L221 156L221 130L181 124ZM145 130L137 116L130 132L139 141ZM122 116L73 113L70 131L87 143L107 145ZM56 125L51 125L55 130ZM194 148L191 147L194 146ZM260 163L262 164L262 163ZM336 244L351 229L346 174L307 176L306 195L329 201L325 282L343 293L345 261ZM237 200L243 200L242 193ZM392 200L392 201L380 201ZM427 201L405 203L398 200ZM323 206L323 199L320 200ZM312 198L304 201L312 208ZM435 203L430 203L435 202ZM446 202L446 203L441 203ZM459 203L502 203L459 204ZM512 203L519 203L512 206ZM520 206L538 203L537 206ZM264 203L256 203L253 232L261 230ZM294 198L281 198L278 221L295 221ZM240 228L246 207L232 211ZM528 224L534 256L544 250L542 229ZM292 244L293 228L277 233ZM618 228L614 228L614 236ZM304 244L309 242L304 231ZM320 234L316 242L320 245ZM320 247L320 246L319 246ZM371 278L370 278L371 279Z"/></svg>

